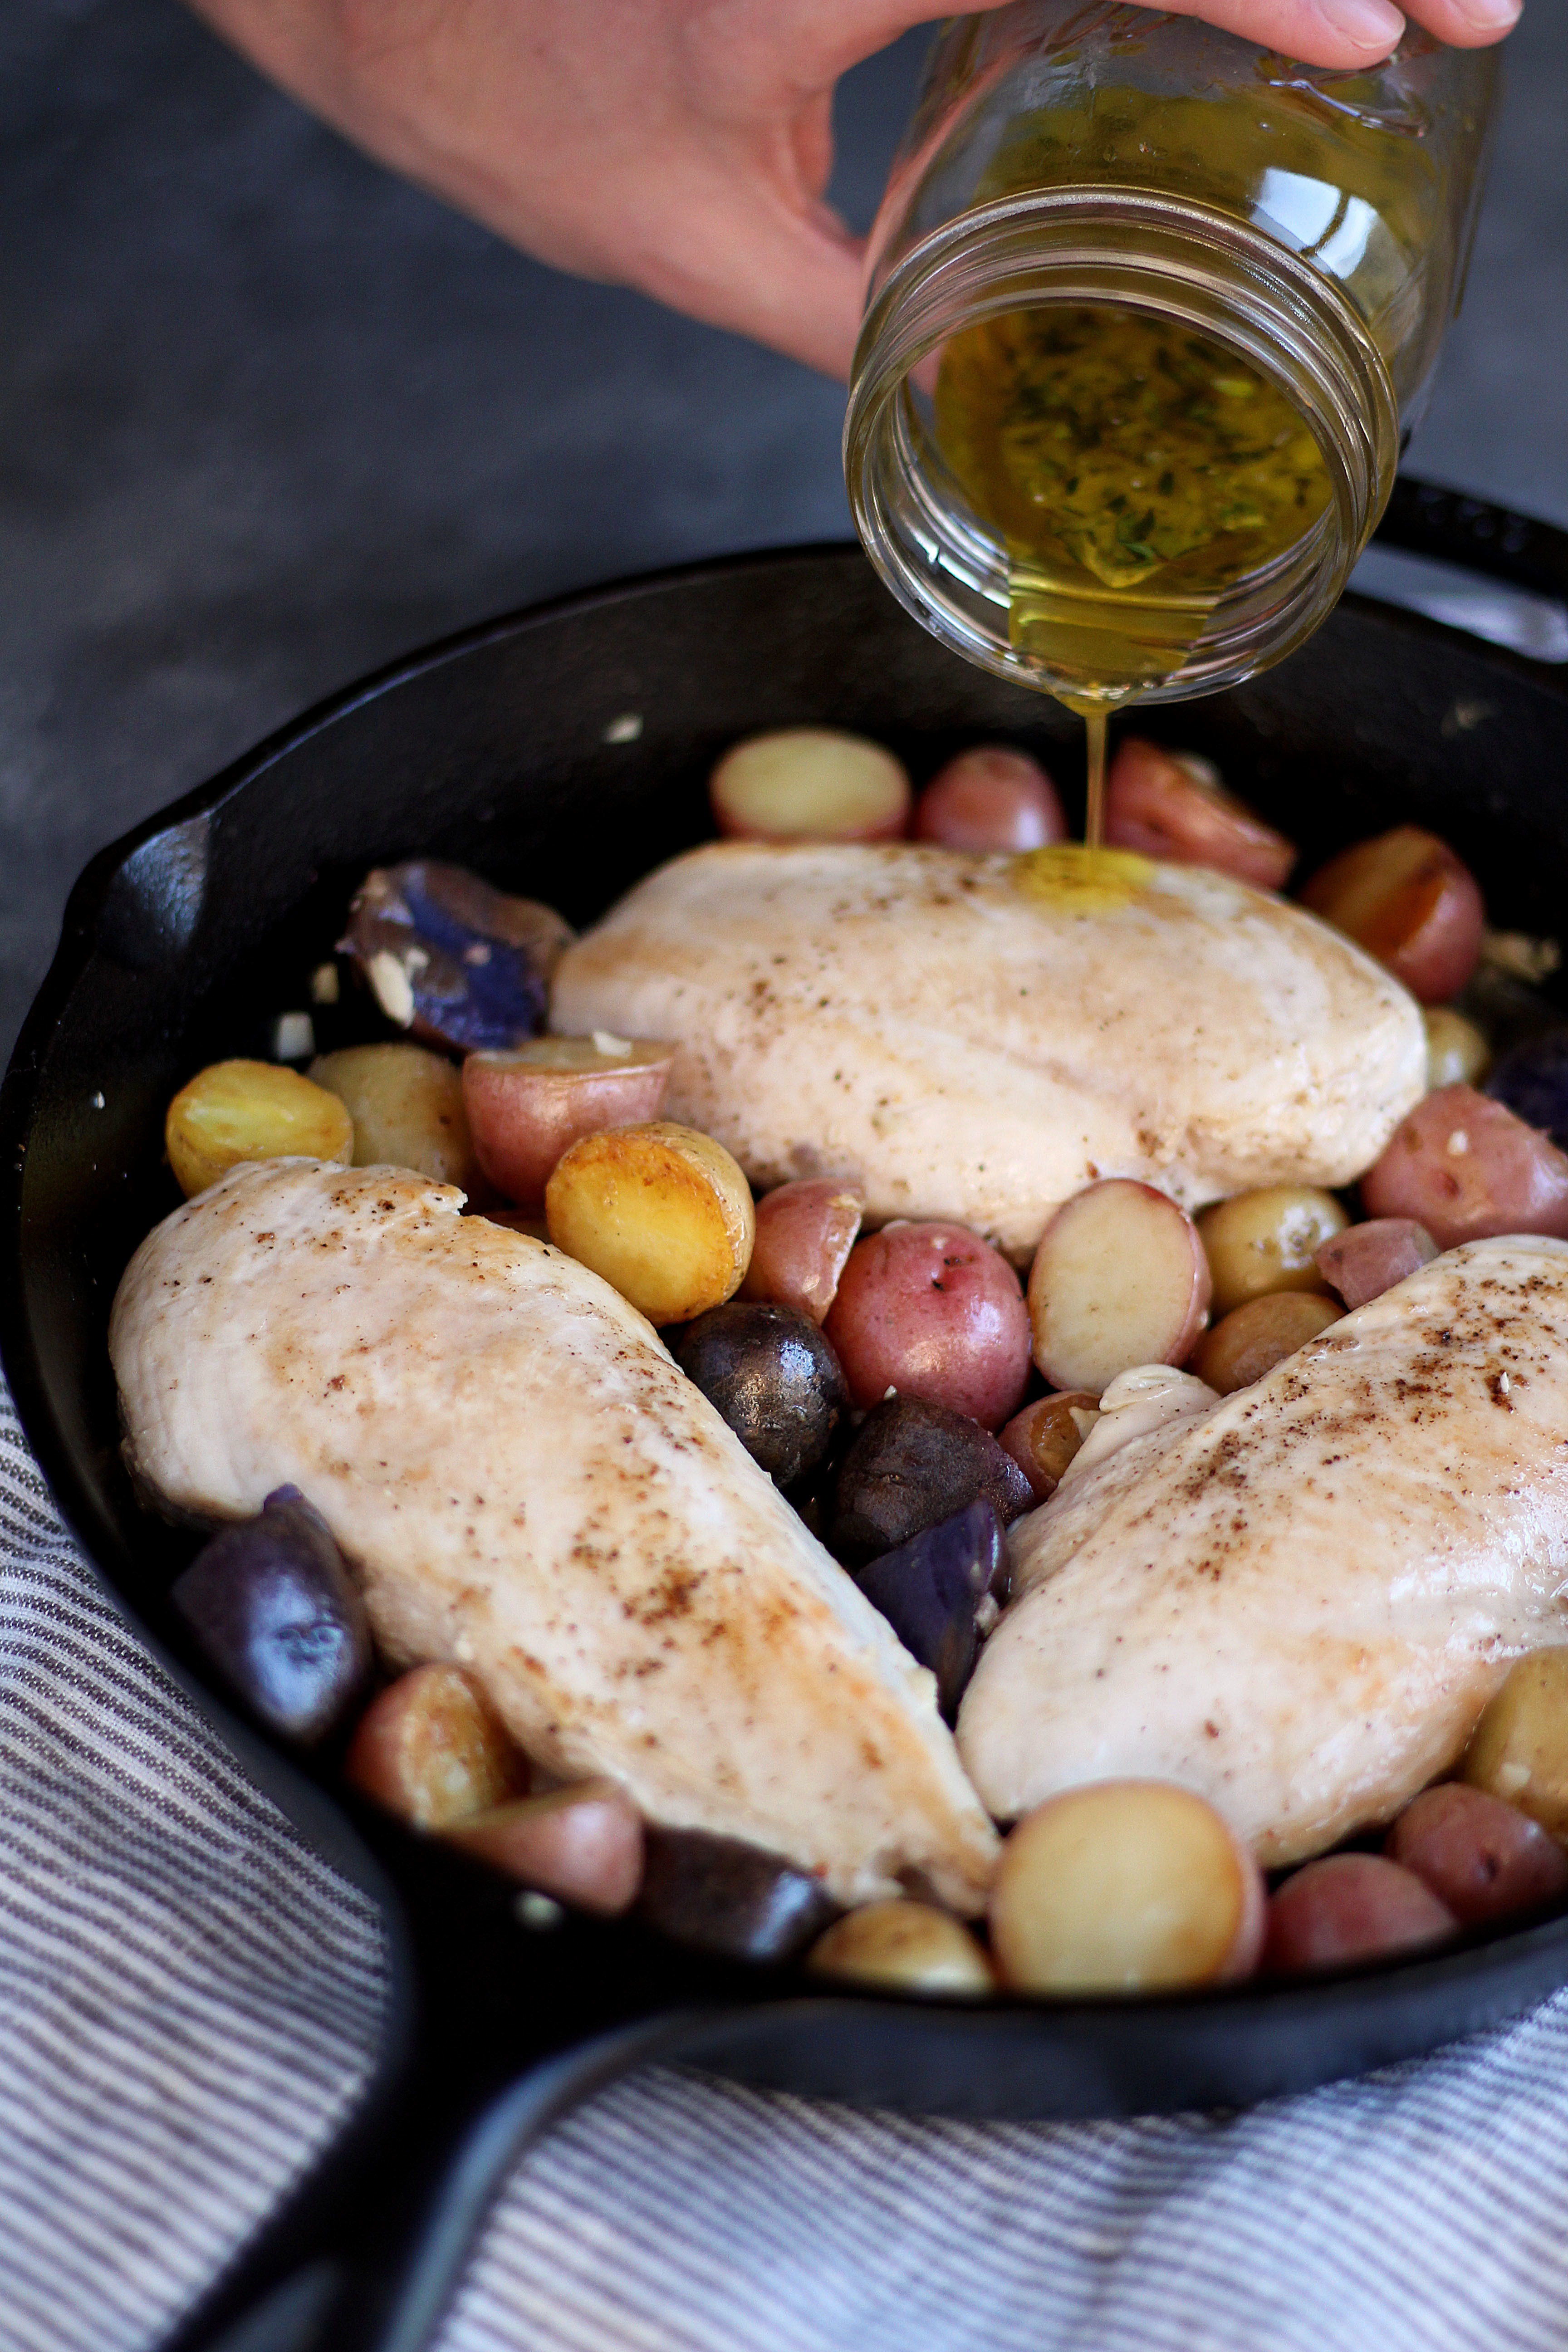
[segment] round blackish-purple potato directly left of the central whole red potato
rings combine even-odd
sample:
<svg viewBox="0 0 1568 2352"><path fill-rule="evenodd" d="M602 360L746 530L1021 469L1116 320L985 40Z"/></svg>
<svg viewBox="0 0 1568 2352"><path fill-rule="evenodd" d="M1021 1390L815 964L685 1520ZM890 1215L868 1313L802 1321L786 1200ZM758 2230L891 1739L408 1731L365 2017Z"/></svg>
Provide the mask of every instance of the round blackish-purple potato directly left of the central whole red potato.
<svg viewBox="0 0 1568 2352"><path fill-rule="evenodd" d="M670 1355L778 1486L818 1468L849 1411L832 1343L790 1308L710 1308L677 1327Z"/></svg>

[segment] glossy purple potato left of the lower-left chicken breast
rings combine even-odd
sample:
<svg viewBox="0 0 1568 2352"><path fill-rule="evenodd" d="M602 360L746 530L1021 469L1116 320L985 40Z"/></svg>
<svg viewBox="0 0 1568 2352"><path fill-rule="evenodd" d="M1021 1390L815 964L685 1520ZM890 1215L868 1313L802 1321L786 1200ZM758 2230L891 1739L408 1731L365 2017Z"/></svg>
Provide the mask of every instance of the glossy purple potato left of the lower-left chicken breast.
<svg viewBox="0 0 1568 2352"><path fill-rule="evenodd" d="M315 1748L364 1691L364 1602L327 1522L296 1486L226 1526L172 1590L202 1653L268 1731Z"/></svg>

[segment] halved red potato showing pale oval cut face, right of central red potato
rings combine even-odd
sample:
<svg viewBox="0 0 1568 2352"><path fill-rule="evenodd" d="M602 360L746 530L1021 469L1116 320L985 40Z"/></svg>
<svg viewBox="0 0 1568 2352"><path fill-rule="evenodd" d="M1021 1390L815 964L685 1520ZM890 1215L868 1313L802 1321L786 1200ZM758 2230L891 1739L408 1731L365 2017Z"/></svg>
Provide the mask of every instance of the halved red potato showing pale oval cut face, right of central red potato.
<svg viewBox="0 0 1568 2352"><path fill-rule="evenodd" d="M1204 1329L1208 1258L1192 1218L1131 1176L1065 1202L1030 1268L1034 1362L1095 1397L1135 1364L1182 1364Z"/></svg>

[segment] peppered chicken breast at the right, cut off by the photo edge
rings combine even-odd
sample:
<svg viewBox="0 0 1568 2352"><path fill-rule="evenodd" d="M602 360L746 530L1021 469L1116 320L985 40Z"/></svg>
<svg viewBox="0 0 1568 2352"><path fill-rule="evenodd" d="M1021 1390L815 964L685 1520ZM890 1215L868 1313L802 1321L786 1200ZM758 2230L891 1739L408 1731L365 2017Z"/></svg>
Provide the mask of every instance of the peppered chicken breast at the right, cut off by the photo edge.
<svg viewBox="0 0 1568 2352"><path fill-rule="evenodd" d="M1568 1244L1434 1258L1072 1477L1011 1550L959 1715L999 1818L1147 1776L1262 1863L1389 1820L1509 1658L1568 1639Z"/></svg>

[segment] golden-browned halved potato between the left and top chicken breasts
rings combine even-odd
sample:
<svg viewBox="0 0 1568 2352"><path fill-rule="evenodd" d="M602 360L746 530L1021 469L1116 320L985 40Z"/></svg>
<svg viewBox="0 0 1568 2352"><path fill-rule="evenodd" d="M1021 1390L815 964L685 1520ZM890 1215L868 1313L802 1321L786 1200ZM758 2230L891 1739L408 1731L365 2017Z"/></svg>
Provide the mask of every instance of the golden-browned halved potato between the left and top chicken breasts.
<svg viewBox="0 0 1568 2352"><path fill-rule="evenodd" d="M555 1164L545 1223L557 1249L604 1275L649 1322L693 1322L741 1289L752 1188L696 1127L611 1127Z"/></svg>

